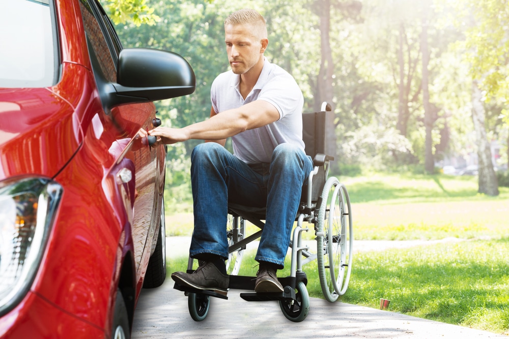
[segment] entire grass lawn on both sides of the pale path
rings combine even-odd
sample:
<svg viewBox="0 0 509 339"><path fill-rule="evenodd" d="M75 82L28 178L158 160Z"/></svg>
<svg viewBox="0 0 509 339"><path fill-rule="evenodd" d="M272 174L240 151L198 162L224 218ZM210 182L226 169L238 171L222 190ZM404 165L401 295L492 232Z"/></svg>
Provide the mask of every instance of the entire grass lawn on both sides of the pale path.
<svg viewBox="0 0 509 339"><path fill-rule="evenodd" d="M340 180L352 202L356 240L463 240L355 254L344 302L378 308L387 298L392 312L509 334L509 189L488 197L477 194L475 177L446 175ZM186 221L184 215L177 215L178 223L167 214L167 233L192 233L192 214ZM244 256L240 274L256 274L253 256ZM186 265L186 258L170 260L168 270ZM323 297L316 265L304 267L307 289ZM287 275L289 267L287 258L278 275Z"/></svg>

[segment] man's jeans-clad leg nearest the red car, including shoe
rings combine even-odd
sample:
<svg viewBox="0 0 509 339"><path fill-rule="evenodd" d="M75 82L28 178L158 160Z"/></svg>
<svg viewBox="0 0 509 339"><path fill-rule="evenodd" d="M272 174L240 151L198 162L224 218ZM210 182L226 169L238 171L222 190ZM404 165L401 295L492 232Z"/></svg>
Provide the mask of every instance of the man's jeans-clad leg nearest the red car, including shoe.
<svg viewBox="0 0 509 339"><path fill-rule="evenodd" d="M229 281L224 260L228 258L229 193L238 203L256 206L262 201L264 204L263 176L221 145L210 142L196 146L192 152L191 185L194 231L189 253L206 264L195 274L175 272L172 278L193 288L226 293Z"/></svg>

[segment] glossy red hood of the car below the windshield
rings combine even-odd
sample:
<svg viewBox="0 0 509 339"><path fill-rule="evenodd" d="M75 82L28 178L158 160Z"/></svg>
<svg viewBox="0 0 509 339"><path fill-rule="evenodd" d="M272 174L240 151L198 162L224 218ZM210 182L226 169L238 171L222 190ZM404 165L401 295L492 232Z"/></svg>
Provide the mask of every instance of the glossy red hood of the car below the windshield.
<svg viewBox="0 0 509 339"><path fill-rule="evenodd" d="M0 89L0 180L26 173L53 177L82 142L76 112L93 91L90 71L75 64L62 70L62 81L50 88ZM83 89L81 98L59 95L71 86Z"/></svg>

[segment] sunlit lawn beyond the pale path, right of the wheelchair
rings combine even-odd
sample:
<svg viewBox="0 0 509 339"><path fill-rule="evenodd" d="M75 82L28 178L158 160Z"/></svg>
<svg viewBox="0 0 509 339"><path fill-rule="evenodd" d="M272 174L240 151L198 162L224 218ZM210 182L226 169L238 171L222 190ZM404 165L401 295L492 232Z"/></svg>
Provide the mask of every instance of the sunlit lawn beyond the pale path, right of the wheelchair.
<svg viewBox="0 0 509 339"><path fill-rule="evenodd" d="M352 202L355 239L507 234L509 189L500 188L498 197L477 194L473 176L374 174L343 181Z"/></svg>

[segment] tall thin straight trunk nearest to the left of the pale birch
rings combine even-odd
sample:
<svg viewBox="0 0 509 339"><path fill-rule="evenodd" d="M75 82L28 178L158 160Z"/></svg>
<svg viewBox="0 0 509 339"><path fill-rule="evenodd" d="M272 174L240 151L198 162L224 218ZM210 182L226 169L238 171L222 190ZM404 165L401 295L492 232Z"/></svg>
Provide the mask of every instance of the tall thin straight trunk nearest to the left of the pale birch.
<svg viewBox="0 0 509 339"><path fill-rule="evenodd" d="M426 4L425 4L426 6ZM433 139L432 130L436 121L436 111L432 110L430 105L430 89L429 89L429 71L430 52L428 48L428 8L424 10L424 18L422 20L422 32L420 35L420 49L422 52L422 105L424 106L424 126L426 128L425 139L425 160L424 168L427 173L432 174L435 171L435 161L433 159Z"/></svg>

